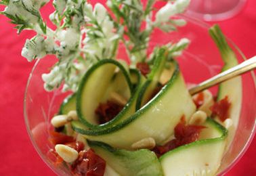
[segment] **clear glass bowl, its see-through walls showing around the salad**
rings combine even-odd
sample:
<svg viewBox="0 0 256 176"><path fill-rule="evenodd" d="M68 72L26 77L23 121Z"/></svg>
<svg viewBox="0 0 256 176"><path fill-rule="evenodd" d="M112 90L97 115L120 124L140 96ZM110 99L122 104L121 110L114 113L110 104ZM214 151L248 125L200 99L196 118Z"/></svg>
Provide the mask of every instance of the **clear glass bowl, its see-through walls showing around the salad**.
<svg viewBox="0 0 256 176"><path fill-rule="evenodd" d="M154 31L150 40L149 50L154 45L178 41L182 37L190 39L191 44L184 54L177 60L180 64L186 83L200 83L217 74L223 62L215 43L208 34L209 26L199 20L188 16L181 16L188 24L175 32L166 34L159 30ZM239 62L245 60L240 50L229 40L236 52ZM119 50L119 58L127 58L124 49ZM56 59L44 58L38 60L30 73L24 97L24 117L26 128L35 149L45 163L58 175L70 175L66 167L56 167L48 157L50 148L54 148L48 141L49 130L52 129L50 119L60 108L60 104L68 93L62 93L60 89L46 92L43 89L41 74L47 72ZM226 154L223 156L218 174L227 173L242 157L249 147L255 133L256 91L255 74L248 72L242 75L242 109L240 121L234 140ZM216 87L213 87L216 92ZM236 145L234 145L236 144Z"/></svg>

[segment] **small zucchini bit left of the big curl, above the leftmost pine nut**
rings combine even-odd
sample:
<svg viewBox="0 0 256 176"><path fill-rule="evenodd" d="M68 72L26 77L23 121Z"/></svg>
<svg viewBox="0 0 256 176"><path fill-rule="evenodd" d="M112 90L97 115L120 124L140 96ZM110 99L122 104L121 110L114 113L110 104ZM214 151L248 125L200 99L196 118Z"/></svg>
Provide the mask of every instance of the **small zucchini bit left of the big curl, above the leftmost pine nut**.
<svg viewBox="0 0 256 176"><path fill-rule="evenodd" d="M60 106L59 114L68 114L70 110L76 110L76 100L77 100L77 94L73 93L71 95L68 95L62 102Z"/></svg>

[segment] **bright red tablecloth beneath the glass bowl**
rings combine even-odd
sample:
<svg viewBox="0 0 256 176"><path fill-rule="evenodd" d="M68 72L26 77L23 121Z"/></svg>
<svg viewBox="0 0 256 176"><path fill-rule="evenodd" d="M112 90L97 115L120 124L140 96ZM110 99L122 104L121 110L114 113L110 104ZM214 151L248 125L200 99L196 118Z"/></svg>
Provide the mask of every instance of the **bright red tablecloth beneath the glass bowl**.
<svg viewBox="0 0 256 176"><path fill-rule="evenodd" d="M18 37L7 21L0 16L0 175L55 175L33 148L24 125L24 90L34 62L26 62L20 51L34 34L25 31ZM247 57L256 54L255 0L249 0L240 14L219 24ZM255 148L256 138L227 175L256 175Z"/></svg>

